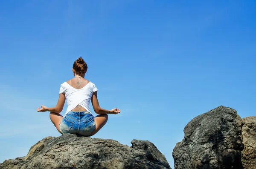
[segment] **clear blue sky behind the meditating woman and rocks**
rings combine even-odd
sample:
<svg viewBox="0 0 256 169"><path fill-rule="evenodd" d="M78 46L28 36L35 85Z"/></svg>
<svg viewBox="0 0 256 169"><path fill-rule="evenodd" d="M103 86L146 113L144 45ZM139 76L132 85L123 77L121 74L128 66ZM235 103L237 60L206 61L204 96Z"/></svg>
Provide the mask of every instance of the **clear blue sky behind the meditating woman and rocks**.
<svg viewBox="0 0 256 169"><path fill-rule="evenodd" d="M255 115L255 8L255 0L1 1L0 162L60 136L36 108L55 106L82 56L100 106L121 109L94 137L149 140L173 168L193 117L220 105Z"/></svg>

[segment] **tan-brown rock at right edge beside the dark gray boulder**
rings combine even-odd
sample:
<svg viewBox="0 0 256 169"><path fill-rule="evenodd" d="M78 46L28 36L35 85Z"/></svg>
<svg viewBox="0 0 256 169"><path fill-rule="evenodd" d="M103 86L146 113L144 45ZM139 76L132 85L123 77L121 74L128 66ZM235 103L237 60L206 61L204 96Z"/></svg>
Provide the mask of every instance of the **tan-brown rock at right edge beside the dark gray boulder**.
<svg viewBox="0 0 256 169"><path fill-rule="evenodd" d="M242 151L242 164L244 169L256 168L256 117L250 116L242 119L242 136L244 150Z"/></svg>

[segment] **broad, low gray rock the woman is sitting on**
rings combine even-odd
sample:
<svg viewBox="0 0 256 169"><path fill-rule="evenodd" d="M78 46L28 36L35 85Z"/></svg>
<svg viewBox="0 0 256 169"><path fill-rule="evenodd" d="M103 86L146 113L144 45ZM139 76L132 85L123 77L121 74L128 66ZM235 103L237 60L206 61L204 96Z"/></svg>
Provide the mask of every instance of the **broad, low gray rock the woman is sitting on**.
<svg viewBox="0 0 256 169"><path fill-rule="evenodd" d="M26 157L5 160L0 169L171 169L153 143L132 140L131 144L72 134L46 137Z"/></svg>

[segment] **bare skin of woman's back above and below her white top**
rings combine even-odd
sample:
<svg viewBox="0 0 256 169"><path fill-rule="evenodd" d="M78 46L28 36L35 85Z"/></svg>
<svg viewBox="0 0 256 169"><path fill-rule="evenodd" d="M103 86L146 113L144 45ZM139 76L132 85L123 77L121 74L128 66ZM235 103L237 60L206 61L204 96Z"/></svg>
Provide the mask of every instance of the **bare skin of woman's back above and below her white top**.
<svg viewBox="0 0 256 169"><path fill-rule="evenodd" d="M67 84L69 84L70 86L72 86L75 89L82 89L89 82L90 82L89 80L86 80L82 77L74 77L73 79L68 80ZM78 105L72 111L73 112L83 112L83 111L87 111L87 110L84 109L82 106Z"/></svg>

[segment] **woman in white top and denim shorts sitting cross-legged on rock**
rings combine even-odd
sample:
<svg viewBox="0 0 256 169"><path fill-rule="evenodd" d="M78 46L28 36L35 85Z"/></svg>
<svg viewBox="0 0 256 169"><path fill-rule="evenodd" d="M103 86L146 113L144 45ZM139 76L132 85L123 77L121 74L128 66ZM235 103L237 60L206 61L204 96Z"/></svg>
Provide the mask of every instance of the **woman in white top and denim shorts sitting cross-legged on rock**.
<svg viewBox="0 0 256 169"><path fill-rule="evenodd" d="M107 123L108 114L118 114L120 109L105 110L99 106L95 84L84 79L87 72L87 64L79 57L73 64L74 78L61 84L58 103L55 107L48 108L41 105L38 112L50 112L50 119L61 134L72 133L84 136L92 136ZM65 99L67 99L67 111L62 117ZM92 101L94 111L99 114L96 117L90 112L89 103Z"/></svg>

